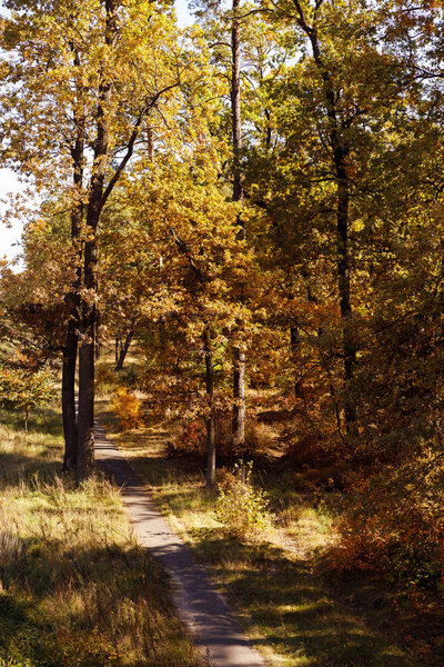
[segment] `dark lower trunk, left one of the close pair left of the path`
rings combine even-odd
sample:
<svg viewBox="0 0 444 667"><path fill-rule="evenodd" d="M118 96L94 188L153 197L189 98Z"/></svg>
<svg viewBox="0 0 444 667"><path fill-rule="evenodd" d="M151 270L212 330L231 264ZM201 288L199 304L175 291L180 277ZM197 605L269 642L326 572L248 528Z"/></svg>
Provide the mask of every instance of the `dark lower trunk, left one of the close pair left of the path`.
<svg viewBox="0 0 444 667"><path fill-rule="evenodd" d="M62 417L64 436L64 456L62 471L75 469L77 461L77 417L75 417L75 364L77 364L77 322L68 321L67 340L63 347L62 368Z"/></svg>

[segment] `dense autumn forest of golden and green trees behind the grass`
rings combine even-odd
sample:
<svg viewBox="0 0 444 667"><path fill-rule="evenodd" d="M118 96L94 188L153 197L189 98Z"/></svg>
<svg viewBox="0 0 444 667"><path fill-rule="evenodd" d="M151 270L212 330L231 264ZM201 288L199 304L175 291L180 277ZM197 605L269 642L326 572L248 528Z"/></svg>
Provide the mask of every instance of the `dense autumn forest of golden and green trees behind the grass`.
<svg viewBox="0 0 444 667"><path fill-rule="evenodd" d="M163 425L222 522L244 494L266 529L248 489L278 474L332 506L334 577L437 614L441 2L194 0L186 29L169 0L3 4L1 162L39 195L4 217L26 231L24 268L1 265L3 408L28 422L61 375L80 488L94 398L122 430Z"/></svg>

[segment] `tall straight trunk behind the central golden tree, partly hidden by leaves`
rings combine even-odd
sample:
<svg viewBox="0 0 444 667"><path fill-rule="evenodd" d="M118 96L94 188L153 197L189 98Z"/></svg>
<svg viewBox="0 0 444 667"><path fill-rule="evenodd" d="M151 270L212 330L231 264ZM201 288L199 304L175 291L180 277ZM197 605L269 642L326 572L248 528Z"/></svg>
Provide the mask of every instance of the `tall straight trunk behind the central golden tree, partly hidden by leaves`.
<svg viewBox="0 0 444 667"><path fill-rule="evenodd" d="M233 142L233 201L243 199L243 175L241 168L242 127L241 127L241 36L238 17L240 0L233 0L233 22L231 29L231 118ZM238 218L239 238L245 239L245 225ZM243 291L243 286L241 286ZM242 297L243 298L243 297ZM233 349L233 444L243 448L245 444L245 351L235 346Z"/></svg>

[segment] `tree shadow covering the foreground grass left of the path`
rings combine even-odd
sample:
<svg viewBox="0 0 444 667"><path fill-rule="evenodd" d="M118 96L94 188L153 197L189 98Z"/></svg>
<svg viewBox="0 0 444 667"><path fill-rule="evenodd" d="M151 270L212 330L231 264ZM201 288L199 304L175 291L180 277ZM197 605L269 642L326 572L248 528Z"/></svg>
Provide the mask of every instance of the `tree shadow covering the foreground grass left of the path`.
<svg viewBox="0 0 444 667"><path fill-rule="evenodd" d="M168 577L143 549L112 540L103 546L36 538L19 545L16 536L7 537L14 548L3 551L0 567L6 664L198 666L172 611Z"/></svg>

